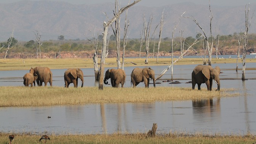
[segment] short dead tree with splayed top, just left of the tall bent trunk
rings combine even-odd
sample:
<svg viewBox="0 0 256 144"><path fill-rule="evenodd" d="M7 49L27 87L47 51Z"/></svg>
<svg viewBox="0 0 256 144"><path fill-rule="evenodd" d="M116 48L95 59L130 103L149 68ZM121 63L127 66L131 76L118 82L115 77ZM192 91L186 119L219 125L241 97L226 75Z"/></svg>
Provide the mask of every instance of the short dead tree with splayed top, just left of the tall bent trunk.
<svg viewBox="0 0 256 144"><path fill-rule="evenodd" d="M90 32L91 32L91 30L90 30ZM94 50L93 66L94 66L95 81L99 82L99 74L100 74L100 69L98 67L99 33L98 33L97 38L96 38L95 37L95 29L94 29L94 35L91 32L91 36L93 38L93 42L89 38L88 38L88 40L94 44L94 46L93 46L93 50Z"/></svg>

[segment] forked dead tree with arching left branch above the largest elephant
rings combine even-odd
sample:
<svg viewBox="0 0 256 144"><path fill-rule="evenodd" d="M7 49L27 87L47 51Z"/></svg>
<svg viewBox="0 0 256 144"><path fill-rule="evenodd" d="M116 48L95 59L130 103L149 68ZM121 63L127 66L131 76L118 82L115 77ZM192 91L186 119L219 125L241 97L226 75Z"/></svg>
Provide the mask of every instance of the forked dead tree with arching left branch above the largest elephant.
<svg viewBox="0 0 256 144"><path fill-rule="evenodd" d="M213 51L213 35L212 35L212 31L211 31L211 21L212 21L212 19L213 19L213 13L212 13L212 11L211 11L211 5L210 5L210 0L209 0L209 10L210 10L210 12L211 12L211 16L209 16L209 18L210 18L210 38L211 38L211 46L210 46L210 43L209 43L209 38L206 36L206 34L205 34L205 31L203 30L203 28L200 26L200 24L197 22L197 20L194 18L194 17L185 17L185 18L190 18L190 19L192 19L192 21L194 21L196 24L197 24L197 26L202 30L202 35L203 35L203 37L204 37L204 39L205 39L205 45L206 45L206 49L207 49L207 51L208 51L208 64L209 64L209 66L211 66L211 55L212 55L212 51Z"/></svg>

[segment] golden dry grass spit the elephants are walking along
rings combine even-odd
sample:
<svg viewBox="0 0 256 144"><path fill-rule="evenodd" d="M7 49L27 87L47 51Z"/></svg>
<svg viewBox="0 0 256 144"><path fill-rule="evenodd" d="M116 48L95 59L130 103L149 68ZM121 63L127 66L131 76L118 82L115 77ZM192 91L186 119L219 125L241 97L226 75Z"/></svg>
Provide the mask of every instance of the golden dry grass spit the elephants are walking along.
<svg viewBox="0 0 256 144"><path fill-rule="evenodd" d="M98 87L25 87L2 86L0 107L56 106L97 103L182 101L206 98L238 96L232 89L221 91L201 91L192 88L112 88Z"/></svg>

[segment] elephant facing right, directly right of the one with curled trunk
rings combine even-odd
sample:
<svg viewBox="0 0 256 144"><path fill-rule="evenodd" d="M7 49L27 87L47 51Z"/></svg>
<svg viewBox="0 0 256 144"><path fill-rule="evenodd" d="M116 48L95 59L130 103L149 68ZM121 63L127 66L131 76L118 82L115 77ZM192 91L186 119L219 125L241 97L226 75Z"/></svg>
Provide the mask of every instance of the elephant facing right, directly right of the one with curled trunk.
<svg viewBox="0 0 256 144"><path fill-rule="evenodd" d="M131 83L133 83L133 87L135 88L140 82L145 83L145 88L149 87L149 78L152 78L154 87L155 87L155 71L149 68L139 68L136 67L131 72Z"/></svg>

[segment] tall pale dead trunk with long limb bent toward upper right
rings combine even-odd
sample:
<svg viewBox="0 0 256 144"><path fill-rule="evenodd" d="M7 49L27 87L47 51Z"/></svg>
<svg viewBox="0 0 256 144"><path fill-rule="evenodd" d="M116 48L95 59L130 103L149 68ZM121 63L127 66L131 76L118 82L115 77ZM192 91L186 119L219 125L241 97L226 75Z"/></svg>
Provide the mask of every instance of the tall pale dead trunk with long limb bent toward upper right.
<svg viewBox="0 0 256 144"><path fill-rule="evenodd" d="M141 0L136 0L130 5L126 5L125 7L121 8L118 13L115 14L115 16L109 20L108 22L103 23L104 26L104 32L103 32L103 46L102 46L102 52L101 52L101 72L100 72L100 78L99 78L99 90L103 90L103 80L104 80L104 65L105 65L105 57L106 57L106 48L107 48L107 33L108 33L108 27L111 25L123 11L125 11L127 8L130 8L131 6L135 5L136 3L140 2Z"/></svg>

